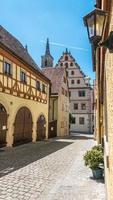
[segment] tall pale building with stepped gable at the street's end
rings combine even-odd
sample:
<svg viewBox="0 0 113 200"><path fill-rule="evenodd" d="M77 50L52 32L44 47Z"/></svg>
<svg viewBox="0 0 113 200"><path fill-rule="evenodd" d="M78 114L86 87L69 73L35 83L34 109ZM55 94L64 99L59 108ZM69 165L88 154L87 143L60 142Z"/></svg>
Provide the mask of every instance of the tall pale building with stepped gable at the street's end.
<svg viewBox="0 0 113 200"><path fill-rule="evenodd" d="M57 64L64 67L68 76L70 96L70 131L92 133L94 127L93 89L73 56L66 49Z"/></svg>

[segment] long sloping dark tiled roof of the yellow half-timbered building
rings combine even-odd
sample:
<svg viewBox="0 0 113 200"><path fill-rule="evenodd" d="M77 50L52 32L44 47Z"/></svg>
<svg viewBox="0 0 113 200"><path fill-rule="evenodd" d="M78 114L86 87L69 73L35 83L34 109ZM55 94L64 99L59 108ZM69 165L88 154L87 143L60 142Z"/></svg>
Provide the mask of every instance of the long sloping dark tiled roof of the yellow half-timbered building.
<svg viewBox="0 0 113 200"><path fill-rule="evenodd" d="M42 76L43 73L35 61L32 59L26 48L17 40L13 35L11 35L5 28L0 25L0 44L5 46L14 55L20 58L22 61L27 63L33 69L37 70Z"/></svg>

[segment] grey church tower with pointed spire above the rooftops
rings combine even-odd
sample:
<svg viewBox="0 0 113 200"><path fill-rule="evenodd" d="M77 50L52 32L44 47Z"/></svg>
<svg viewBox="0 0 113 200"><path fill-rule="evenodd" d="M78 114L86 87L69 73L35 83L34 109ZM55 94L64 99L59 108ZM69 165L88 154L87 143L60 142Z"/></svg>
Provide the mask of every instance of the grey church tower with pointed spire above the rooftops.
<svg viewBox="0 0 113 200"><path fill-rule="evenodd" d="M45 55L41 57L41 67L53 67L53 60L50 54L49 39L47 38Z"/></svg>

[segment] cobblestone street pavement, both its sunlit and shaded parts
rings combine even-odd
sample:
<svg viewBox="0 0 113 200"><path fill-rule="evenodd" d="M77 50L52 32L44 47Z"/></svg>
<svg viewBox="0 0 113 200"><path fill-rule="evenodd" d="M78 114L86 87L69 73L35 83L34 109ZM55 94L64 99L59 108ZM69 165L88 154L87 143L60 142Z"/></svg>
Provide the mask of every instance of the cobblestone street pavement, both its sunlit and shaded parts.
<svg viewBox="0 0 113 200"><path fill-rule="evenodd" d="M69 136L0 151L0 200L105 200L83 155L91 138Z"/></svg>

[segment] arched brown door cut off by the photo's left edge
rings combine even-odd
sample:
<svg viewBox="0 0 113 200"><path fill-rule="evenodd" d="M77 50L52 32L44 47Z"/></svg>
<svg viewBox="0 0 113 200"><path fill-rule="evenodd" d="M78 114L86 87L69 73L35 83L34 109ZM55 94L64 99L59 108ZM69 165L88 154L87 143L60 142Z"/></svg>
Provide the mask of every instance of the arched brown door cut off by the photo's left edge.
<svg viewBox="0 0 113 200"><path fill-rule="evenodd" d="M0 147L6 145L7 117L6 109L0 104Z"/></svg>

